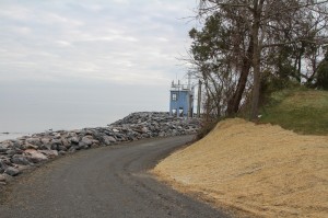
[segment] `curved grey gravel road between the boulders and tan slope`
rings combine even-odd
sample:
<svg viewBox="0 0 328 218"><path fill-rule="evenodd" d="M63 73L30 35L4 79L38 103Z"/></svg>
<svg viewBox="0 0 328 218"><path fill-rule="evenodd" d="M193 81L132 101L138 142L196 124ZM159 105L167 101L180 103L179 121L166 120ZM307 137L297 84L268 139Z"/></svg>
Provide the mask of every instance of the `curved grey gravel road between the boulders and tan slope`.
<svg viewBox="0 0 328 218"><path fill-rule="evenodd" d="M147 171L190 136L91 149L23 174L1 195L1 218L226 217Z"/></svg>

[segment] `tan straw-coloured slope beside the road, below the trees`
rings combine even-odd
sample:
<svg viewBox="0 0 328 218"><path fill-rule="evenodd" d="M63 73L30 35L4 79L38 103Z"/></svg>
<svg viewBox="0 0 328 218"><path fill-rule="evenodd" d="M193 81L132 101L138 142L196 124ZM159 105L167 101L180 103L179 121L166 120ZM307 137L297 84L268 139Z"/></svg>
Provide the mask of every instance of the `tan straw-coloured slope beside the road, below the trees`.
<svg viewBox="0 0 328 218"><path fill-rule="evenodd" d="M181 192L250 216L328 217L328 135L227 119L153 172Z"/></svg>

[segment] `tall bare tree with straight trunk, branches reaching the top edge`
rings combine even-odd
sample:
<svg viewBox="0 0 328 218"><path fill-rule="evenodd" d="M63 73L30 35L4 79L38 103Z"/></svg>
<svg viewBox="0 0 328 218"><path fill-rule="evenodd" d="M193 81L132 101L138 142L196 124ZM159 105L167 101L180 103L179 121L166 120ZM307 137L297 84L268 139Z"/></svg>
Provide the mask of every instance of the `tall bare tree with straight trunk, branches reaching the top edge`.
<svg viewBox="0 0 328 218"><path fill-rule="evenodd" d="M301 44L302 48L305 43L323 43L325 38L316 37L316 35L311 39L306 37L308 31L306 26L302 25L301 16L313 11L323 15L326 21L327 2L324 0L200 0L200 16L208 16L215 12L225 15L222 16L223 22L235 25L243 22L247 26L247 33L251 38L251 46L248 47L248 50L250 49L251 53L249 57L251 57L254 79L251 119L257 119L258 116L261 58L265 50L284 45ZM236 13L239 16L231 15ZM318 24L323 22L320 21ZM302 32L304 33L302 34ZM272 33L276 34L271 35ZM303 55L304 53L301 50L301 56ZM298 57L298 65L300 59L301 57ZM298 69L301 69L300 66Z"/></svg>

